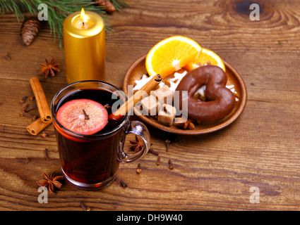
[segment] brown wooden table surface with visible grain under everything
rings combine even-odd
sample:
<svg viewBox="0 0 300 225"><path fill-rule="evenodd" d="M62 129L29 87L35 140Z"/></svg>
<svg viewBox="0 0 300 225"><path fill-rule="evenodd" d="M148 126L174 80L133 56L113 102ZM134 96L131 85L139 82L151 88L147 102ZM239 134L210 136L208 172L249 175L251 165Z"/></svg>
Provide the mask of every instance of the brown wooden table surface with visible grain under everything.
<svg viewBox="0 0 300 225"><path fill-rule="evenodd" d="M37 201L37 180L42 172L61 173L56 139L30 135L32 119L20 117L25 104L19 102L32 95L33 76L40 78L49 103L66 86L64 49L49 27L24 46L16 16L0 15L0 210L82 210L80 202L91 210L300 210L300 2L257 1L258 21L240 2L127 0L128 8L112 14L107 82L121 88L131 63L158 41L180 34L240 73L248 90L246 108L212 134L171 135L148 126L159 166L151 153L138 161L140 174L138 162L121 164L118 176L127 188L113 183L80 191L63 181L47 204ZM39 75L44 58L61 63L56 77ZM51 124L45 131L53 129ZM172 140L168 152L166 139ZM253 203L258 191L259 203Z"/></svg>

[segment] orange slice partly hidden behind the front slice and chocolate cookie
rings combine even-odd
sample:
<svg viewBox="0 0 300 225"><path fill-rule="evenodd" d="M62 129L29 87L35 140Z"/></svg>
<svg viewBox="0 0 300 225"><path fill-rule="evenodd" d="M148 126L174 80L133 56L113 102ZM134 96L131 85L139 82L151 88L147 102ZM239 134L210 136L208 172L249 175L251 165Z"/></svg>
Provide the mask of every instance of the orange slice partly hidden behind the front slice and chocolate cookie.
<svg viewBox="0 0 300 225"><path fill-rule="evenodd" d="M193 63L188 63L187 65L185 65L184 69L191 71L198 68L199 66L206 64L217 65L225 71L225 65L220 56L218 56L213 51L204 48L202 49L199 58L197 58Z"/></svg>

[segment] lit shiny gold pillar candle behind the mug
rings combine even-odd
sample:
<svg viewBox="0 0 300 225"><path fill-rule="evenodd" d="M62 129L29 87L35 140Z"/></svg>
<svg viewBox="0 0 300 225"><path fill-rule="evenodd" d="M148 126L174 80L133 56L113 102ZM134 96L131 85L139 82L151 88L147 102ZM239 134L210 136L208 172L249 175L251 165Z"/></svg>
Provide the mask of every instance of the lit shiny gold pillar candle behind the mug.
<svg viewBox="0 0 300 225"><path fill-rule="evenodd" d="M66 82L105 82L105 24L97 13L72 13L64 20Z"/></svg>

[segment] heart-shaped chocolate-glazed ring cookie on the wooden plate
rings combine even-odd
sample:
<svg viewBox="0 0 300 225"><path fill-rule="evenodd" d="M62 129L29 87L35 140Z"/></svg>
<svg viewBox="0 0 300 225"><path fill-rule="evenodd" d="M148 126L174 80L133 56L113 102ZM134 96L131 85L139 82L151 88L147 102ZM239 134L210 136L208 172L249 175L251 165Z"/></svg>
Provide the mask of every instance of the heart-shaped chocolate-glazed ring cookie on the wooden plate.
<svg viewBox="0 0 300 225"><path fill-rule="evenodd" d="M205 65L188 72L176 88L179 91L179 106L182 105L182 91L188 91L188 117L198 121L212 122L228 115L234 108L235 98L227 89L226 73L215 65ZM198 89L206 85L208 101L193 98Z"/></svg>

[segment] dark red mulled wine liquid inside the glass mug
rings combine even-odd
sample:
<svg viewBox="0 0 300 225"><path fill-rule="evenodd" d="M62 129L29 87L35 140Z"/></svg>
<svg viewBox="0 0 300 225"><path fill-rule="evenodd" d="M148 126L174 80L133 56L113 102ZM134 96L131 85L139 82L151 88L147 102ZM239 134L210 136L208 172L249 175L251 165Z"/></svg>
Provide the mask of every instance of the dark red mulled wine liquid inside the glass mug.
<svg viewBox="0 0 300 225"><path fill-rule="evenodd" d="M56 105L56 113L61 105L74 99L90 99L106 105L107 113L112 113L112 105L119 97L101 89L78 89L61 98ZM124 117L125 118L125 117ZM75 140L56 130L59 145L61 167L71 179L85 184L97 184L115 176L119 169L118 148L119 140L123 140L124 131L119 129L114 134L97 139L98 134L114 130L123 121L108 121L104 129L92 134L95 141Z"/></svg>

